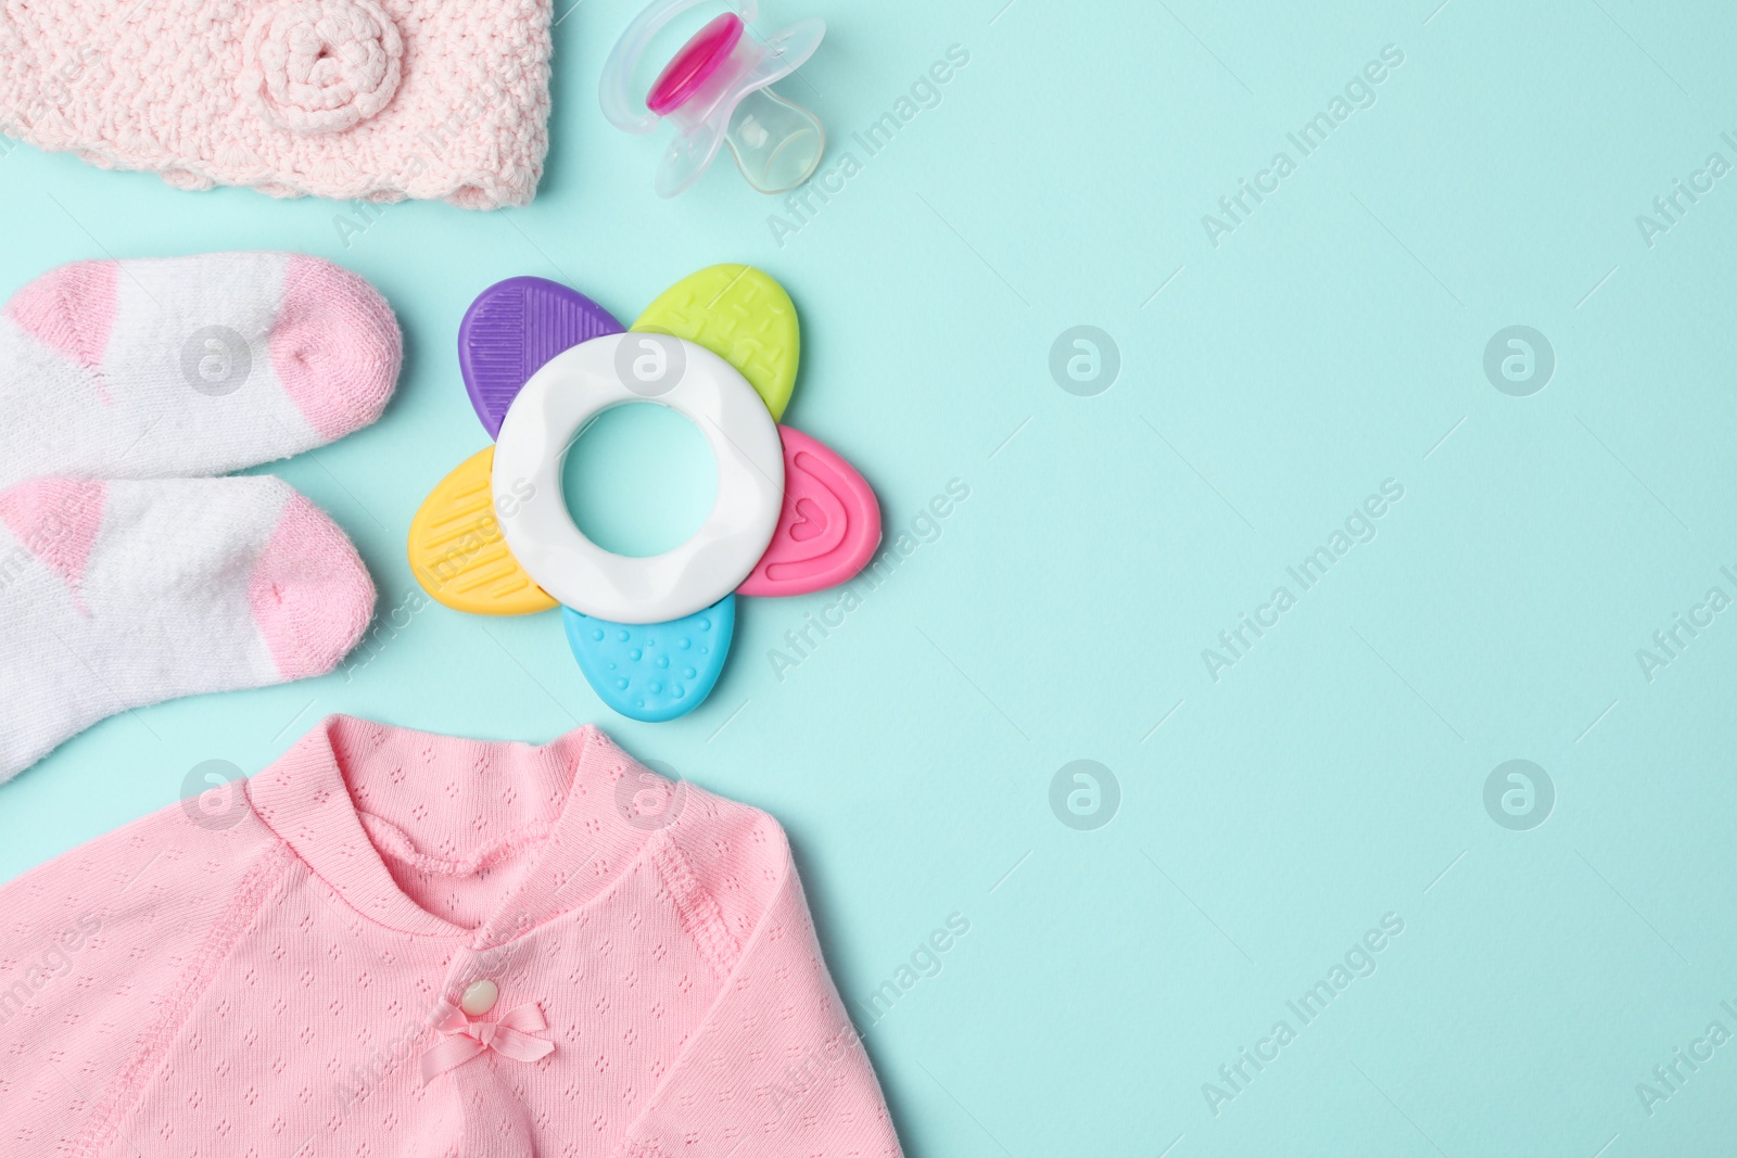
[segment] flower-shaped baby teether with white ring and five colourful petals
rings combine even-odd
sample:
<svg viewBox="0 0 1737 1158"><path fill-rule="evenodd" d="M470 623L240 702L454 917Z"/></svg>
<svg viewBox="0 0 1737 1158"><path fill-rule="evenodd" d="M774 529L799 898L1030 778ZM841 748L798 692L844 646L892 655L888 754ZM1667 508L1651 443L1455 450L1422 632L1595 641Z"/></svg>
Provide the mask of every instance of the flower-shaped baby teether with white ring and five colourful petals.
<svg viewBox="0 0 1737 1158"><path fill-rule="evenodd" d="M410 521L410 569L474 615L561 608L568 646L611 708L657 722L697 708L723 672L738 595L802 595L856 576L881 507L844 458L778 420L796 387L796 306L749 266L683 278L624 332L589 297L509 278L459 325L459 368L495 439ZM561 490L566 451L599 413L658 403L705 436L717 498L674 550L603 550Z"/></svg>

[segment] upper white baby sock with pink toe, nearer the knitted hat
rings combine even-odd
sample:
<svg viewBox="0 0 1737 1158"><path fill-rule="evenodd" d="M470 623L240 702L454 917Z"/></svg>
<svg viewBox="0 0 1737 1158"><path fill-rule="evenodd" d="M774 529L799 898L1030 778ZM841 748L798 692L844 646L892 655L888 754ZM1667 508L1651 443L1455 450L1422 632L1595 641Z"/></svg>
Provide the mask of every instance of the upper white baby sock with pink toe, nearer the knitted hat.
<svg viewBox="0 0 1737 1158"><path fill-rule="evenodd" d="M299 253L76 262L0 314L0 488L224 474L368 425L403 342L356 274Z"/></svg>

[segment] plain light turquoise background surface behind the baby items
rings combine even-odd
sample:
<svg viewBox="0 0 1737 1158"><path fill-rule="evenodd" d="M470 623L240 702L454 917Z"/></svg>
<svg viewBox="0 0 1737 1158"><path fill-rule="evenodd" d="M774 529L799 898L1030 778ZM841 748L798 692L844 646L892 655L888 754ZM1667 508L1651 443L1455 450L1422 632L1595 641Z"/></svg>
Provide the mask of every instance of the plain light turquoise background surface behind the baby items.
<svg viewBox="0 0 1737 1158"><path fill-rule="evenodd" d="M347 207L175 193L17 148L0 290L80 257L292 248L391 299L408 339L370 431L273 467L356 538L382 609L427 490L485 446L453 358L511 274L631 319L742 260L802 314L789 420L849 457L889 528L969 498L799 667L768 649L830 597L749 601L712 700L606 712L554 615L431 606L346 677L104 722L0 788L0 877L257 769L327 712L629 750L773 811L856 1003L962 913L971 931L865 1030L900 1134L941 1155L1727 1153L1737 1043L1648 1115L1636 1083L1737 1031L1737 611L1648 682L1636 649L1737 595L1730 448L1737 175L1648 247L1636 215L1737 149L1728 5L1575 0L1065 5L768 0L830 31L783 92L860 161L773 236L724 160L651 196L658 144L596 78L632 0L558 28L537 203ZM875 156L853 130L950 45L969 64ZM1285 139L1403 52L1306 160ZM1737 132L1734 132L1737 135ZM1298 170L1214 247L1202 215L1277 149ZM1056 337L1122 368L1058 389ZM1485 378L1541 330L1542 392ZM1200 653L1384 479L1405 488L1214 682ZM1296 592L1296 589L1292 589ZM1162 724L1160 724L1162 720ZM1110 825L1049 806L1075 759ZM1555 783L1497 826L1489 773ZM1285 1009L1384 913L1403 934L1313 1024ZM1202 1083L1298 1038L1214 1115ZM1685 1069L1687 1073L1687 1069Z"/></svg>

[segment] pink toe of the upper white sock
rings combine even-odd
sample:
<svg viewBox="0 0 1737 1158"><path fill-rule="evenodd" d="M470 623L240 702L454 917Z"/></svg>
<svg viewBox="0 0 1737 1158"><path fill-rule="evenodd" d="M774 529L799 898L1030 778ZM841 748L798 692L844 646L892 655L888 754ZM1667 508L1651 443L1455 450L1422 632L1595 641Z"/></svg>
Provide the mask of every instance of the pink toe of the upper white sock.
<svg viewBox="0 0 1737 1158"><path fill-rule="evenodd" d="M398 319L372 285L318 257L290 257L271 365L321 436L379 418L401 359Z"/></svg>

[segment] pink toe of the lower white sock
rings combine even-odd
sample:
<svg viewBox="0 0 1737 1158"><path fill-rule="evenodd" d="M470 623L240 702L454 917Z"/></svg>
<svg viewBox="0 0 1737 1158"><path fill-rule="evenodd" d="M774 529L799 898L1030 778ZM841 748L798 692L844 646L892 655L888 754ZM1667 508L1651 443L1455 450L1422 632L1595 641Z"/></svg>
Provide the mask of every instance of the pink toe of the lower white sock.
<svg viewBox="0 0 1737 1158"><path fill-rule="evenodd" d="M344 531L301 495L285 505L247 595L283 679L335 668L373 618L368 568Z"/></svg>

